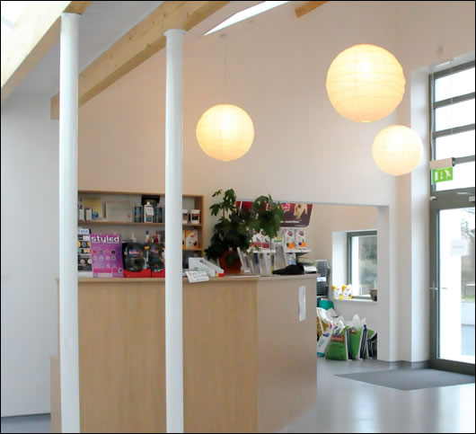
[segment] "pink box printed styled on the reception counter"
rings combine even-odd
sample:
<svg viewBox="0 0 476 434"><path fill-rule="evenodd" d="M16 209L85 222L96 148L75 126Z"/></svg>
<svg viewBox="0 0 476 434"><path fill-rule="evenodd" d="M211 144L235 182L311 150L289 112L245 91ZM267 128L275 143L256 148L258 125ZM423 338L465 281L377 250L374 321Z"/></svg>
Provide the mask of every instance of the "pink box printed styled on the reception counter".
<svg viewBox="0 0 476 434"><path fill-rule="evenodd" d="M120 235L92 234L91 258L94 278L124 277Z"/></svg>

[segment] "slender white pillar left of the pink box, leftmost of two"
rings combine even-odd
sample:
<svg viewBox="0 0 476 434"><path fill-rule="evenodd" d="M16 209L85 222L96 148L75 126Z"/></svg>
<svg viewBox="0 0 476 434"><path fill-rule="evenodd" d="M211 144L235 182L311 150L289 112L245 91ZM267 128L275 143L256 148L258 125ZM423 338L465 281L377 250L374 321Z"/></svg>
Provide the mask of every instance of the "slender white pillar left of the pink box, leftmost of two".
<svg viewBox="0 0 476 434"><path fill-rule="evenodd" d="M59 362L61 430L80 432L77 303L79 15L61 15L59 57Z"/></svg>

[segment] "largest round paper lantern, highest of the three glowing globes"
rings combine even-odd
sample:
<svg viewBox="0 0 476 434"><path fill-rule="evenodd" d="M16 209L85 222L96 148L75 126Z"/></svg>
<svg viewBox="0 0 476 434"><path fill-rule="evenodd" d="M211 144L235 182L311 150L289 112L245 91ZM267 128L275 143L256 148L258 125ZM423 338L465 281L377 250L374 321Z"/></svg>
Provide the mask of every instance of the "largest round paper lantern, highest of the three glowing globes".
<svg viewBox="0 0 476 434"><path fill-rule="evenodd" d="M332 107L344 118L373 122L388 116L400 104L405 76L392 53L359 44L332 60L326 89Z"/></svg>

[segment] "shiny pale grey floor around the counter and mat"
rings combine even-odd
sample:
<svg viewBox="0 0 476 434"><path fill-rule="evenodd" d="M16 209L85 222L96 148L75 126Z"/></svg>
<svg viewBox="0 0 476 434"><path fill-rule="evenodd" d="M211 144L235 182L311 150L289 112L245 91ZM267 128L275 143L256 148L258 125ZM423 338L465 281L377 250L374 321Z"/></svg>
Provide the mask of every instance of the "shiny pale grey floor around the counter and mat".
<svg viewBox="0 0 476 434"><path fill-rule="evenodd" d="M317 406L282 432L474 432L474 384L401 391L336 376L378 369L318 359ZM49 415L2 418L1 432L50 432Z"/></svg>

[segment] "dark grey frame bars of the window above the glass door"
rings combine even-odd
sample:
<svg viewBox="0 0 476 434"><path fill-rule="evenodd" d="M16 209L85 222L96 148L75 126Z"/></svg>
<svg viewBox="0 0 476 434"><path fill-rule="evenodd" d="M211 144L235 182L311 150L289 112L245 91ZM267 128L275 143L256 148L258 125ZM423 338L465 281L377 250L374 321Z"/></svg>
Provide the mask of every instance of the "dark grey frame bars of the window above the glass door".
<svg viewBox="0 0 476 434"><path fill-rule="evenodd" d="M454 75L459 72L465 71L467 69L471 69L475 67L475 61L472 60L470 62L463 63L458 66L451 66L449 68L442 69L440 71L434 72L430 75L428 75L428 98L429 98L429 137L430 137L430 161L436 160L436 138L438 137L448 137L448 136L454 136L459 133L463 132L468 132L468 131L474 131L475 129L475 124L467 124L467 125L462 125L459 127L455 128L447 128L447 129L441 129L441 130L436 130L435 129L435 121L436 121L436 109L439 109L441 107L447 107L450 105L454 105L458 102L465 102L465 101L474 101L475 100L475 93L464 93L463 95L457 95L455 97L447 98L445 100L441 100L438 102L435 102L435 81L438 78L442 78L448 75ZM457 157L454 158L454 166L457 164L463 164L463 163L469 163L475 161L475 156L473 155L467 155L463 157ZM469 194L472 190L474 190L474 187L464 187L464 188L455 188L455 189L448 189L448 190L436 190L436 184L431 182L431 171L429 171L428 174L428 182L430 184L430 191L431 195L434 198L437 197L445 197L448 192L455 192L459 191L461 193L466 193Z"/></svg>

